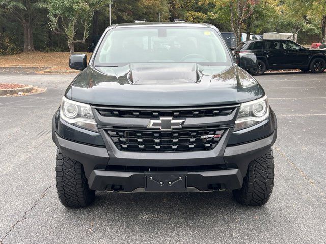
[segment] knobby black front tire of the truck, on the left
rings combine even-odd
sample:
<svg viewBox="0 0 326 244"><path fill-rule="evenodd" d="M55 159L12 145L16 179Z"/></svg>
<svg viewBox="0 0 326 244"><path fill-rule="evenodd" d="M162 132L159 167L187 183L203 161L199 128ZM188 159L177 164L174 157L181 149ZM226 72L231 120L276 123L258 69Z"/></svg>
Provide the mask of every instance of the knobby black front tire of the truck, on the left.
<svg viewBox="0 0 326 244"><path fill-rule="evenodd" d="M70 159L57 150L56 181L58 197L66 207L86 207L94 198L95 191L90 190L81 163Z"/></svg>

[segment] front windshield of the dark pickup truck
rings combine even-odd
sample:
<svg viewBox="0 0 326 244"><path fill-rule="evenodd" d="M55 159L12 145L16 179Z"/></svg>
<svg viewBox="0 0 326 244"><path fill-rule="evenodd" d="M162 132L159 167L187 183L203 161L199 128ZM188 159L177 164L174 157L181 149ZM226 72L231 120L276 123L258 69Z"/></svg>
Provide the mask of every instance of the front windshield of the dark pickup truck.
<svg viewBox="0 0 326 244"><path fill-rule="evenodd" d="M95 54L95 66L130 63L231 65L217 32L210 28L127 27L109 31Z"/></svg>

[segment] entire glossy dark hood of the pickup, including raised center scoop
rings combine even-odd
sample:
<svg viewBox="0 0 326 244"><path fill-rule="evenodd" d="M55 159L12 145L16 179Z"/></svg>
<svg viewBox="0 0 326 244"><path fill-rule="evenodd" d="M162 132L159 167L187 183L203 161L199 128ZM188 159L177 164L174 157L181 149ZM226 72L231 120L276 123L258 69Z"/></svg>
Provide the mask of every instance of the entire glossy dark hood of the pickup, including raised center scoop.
<svg viewBox="0 0 326 244"><path fill-rule="evenodd" d="M112 106L199 106L235 104L264 95L238 66L195 63L88 66L66 90L74 101Z"/></svg>

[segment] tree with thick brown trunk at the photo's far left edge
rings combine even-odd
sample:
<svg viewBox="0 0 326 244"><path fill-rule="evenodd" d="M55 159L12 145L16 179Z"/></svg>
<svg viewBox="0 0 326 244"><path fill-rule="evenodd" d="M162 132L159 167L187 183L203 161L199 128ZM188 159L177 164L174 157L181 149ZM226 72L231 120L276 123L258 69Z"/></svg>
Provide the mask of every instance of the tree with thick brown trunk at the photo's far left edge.
<svg viewBox="0 0 326 244"><path fill-rule="evenodd" d="M32 24L37 16L37 11L45 7L44 2L0 0L0 6L20 22L24 30L24 52L34 52Z"/></svg>

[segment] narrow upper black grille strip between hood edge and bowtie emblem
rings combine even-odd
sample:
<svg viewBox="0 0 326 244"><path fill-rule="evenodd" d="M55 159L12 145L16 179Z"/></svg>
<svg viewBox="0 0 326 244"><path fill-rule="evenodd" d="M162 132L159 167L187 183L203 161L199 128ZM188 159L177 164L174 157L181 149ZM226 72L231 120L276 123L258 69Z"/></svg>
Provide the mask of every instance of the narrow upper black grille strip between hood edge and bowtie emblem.
<svg viewBox="0 0 326 244"><path fill-rule="evenodd" d="M234 108L202 108L202 109L171 109L169 110L120 110L120 109L98 109L98 112L105 117L124 118L159 118L164 116L178 118L192 117L214 117L230 115Z"/></svg>

